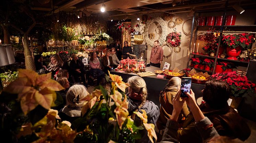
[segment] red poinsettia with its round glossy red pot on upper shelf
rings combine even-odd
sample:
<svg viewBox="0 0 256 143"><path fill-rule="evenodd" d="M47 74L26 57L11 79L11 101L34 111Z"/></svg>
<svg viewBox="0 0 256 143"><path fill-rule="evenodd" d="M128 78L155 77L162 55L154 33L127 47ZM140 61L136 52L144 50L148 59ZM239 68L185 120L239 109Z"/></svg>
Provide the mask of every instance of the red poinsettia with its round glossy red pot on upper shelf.
<svg viewBox="0 0 256 143"><path fill-rule="evenodd" d="M241 51L250 48L255 42L255 37L248 33L228 34L223 35L222 41L228 45L226 50L229 57L227 59L237 60L236 57L240 55Z"/></svg>

